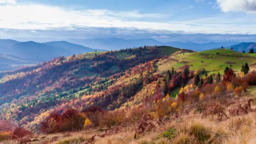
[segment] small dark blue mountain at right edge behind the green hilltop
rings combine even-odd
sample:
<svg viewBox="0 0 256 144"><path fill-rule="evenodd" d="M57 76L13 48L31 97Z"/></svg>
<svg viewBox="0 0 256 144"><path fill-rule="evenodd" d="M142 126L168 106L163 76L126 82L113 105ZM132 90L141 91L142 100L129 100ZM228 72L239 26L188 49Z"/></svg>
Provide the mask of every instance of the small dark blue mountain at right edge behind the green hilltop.
<svg viewBox="0 0 256 144"><path fill-rule="evenodd" d="M248 51L250 51L251 48L254 48L254 50L256 50L256 43L243 42L243 43L239 43L237 45L230 45L225 48L233 48L233 51L238 51L238 52L245 51L246 53L248 53Z"/></svg>

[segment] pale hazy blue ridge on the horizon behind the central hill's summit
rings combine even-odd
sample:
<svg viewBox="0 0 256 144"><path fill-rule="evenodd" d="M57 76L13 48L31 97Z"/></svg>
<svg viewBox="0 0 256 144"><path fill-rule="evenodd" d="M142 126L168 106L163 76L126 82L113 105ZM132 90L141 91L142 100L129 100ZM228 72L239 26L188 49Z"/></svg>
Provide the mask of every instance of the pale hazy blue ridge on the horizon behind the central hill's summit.
<svg viewBox="0 0 256 144"><path fill-rule="evenodd" d="M211 48L234 45L237 42L210 42L210 43L193 43L193 42L168 42L162 43L154 39L132 39L125 40L121 38L98 38L98 39L69 39L72 43L86 45L88 47L100 48L105 50L115 50L120 48L133 48L143 45L167 45L176 48L190 49L193 51L204 51Z"/></svg>

